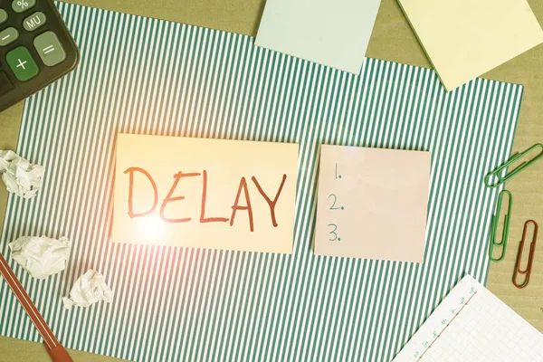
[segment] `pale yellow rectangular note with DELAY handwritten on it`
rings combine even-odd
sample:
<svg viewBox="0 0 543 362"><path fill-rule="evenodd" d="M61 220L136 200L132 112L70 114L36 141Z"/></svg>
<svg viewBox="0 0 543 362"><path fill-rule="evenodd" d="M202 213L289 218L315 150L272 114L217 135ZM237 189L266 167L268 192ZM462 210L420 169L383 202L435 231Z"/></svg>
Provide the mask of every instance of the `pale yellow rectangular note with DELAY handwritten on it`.
<svg viewBox="0 0 543 362"><path fill-rule="evenodd" d="M112 241L292 252L298 145L119 134Z"/></svg>

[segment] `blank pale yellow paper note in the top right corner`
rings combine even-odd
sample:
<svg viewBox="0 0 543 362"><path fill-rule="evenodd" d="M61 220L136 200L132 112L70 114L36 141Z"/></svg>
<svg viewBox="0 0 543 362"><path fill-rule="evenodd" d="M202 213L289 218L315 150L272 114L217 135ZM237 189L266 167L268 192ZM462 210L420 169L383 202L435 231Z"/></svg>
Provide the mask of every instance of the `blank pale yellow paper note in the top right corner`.
<svg viewBox="0 0 543 362"><path fill-rule="evenodd" d="M543 43L526 0L398 0L445 90Z"/></svg>

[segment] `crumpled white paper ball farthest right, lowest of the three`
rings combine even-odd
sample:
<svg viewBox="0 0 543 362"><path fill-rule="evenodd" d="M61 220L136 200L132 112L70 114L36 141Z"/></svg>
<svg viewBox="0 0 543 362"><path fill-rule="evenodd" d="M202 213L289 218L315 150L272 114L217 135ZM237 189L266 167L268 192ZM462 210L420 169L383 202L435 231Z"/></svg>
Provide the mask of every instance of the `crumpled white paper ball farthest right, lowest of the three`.
<svg viewBox="0 0 543 362"><path fill-rule="evenodd" d="M62 298L64 308L67 310L72 306L87 308L100 300L110 303L113 300L113 291L106 284L106 278L92 269L75 281L71 287L70 298Z"/></svg>

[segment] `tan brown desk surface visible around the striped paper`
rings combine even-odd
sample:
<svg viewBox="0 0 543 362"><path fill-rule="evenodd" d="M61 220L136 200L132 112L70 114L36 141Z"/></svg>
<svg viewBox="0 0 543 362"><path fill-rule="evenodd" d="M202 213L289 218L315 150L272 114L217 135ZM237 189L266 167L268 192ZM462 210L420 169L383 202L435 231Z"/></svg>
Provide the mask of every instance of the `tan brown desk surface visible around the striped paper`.
<svg viewBox="0 0 543 362"><path fill-rule="evenodd" d="M194 24L233 33L255 35L262 16L264 0L71 0L70 3L138 14L158 19ZM529 5L543 24L543 3L529 0ZM382 0L367 57L402 62L430 68L424 51L416 40L396 0ZM524 97L519 126L513 145L518 152L543 142L543 45L483 75L496 81L523 84ZM0 149L15 149L23 104L0 113ZM524 222L534 219L543 226L543 162L522 176L508 182L515 195L510 227L509 248L518 250ZM7 193L0 187L0 220L4 220ZM0 232L2 230L0 223ZM518 237L517 237L518 236ZM542 243L542 242L540 242ZM516 252L509 252L503 262L492 263L487 287L520 316L543 332L543 246L536 250L529 288L519 291L511 283ZM38 343L0 337L0 362L48 360ZM115 358L70 351L77 361L114 361Z"/></svg>

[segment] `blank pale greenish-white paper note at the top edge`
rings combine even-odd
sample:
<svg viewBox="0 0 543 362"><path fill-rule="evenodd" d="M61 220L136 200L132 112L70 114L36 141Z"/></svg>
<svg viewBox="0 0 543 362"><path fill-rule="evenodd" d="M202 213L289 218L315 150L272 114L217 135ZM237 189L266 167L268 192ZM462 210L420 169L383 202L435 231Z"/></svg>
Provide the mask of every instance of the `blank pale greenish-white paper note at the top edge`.
<svg viewBox="0 0 543 362"><path fill-rule="evenodd" d="M380 0L268 0L255 44L359 74Z"/></svg>

